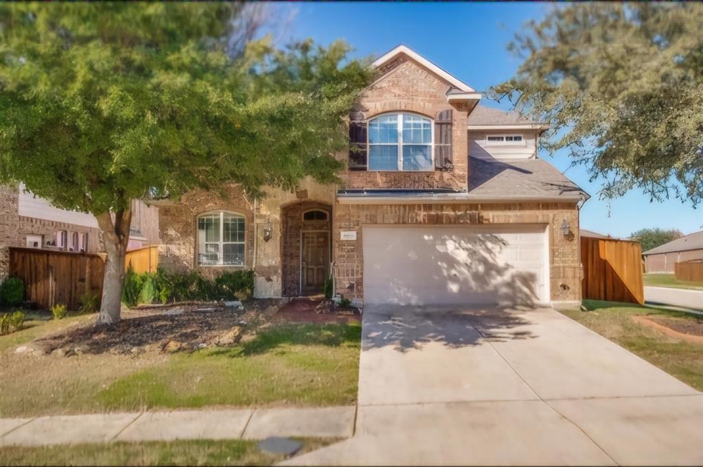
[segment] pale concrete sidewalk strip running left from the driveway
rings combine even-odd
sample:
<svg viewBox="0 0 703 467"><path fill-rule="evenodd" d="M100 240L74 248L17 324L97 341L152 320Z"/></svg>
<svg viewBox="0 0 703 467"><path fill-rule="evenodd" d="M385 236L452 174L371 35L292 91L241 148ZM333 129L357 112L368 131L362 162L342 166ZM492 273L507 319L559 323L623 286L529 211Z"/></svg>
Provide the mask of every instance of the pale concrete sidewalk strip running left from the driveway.
<svg viewBox="0 0 703 467"><path fill-rule="evenodd" d="M0 419L0 447L82 442L349 438L356 407L175 410Z"/></svg>

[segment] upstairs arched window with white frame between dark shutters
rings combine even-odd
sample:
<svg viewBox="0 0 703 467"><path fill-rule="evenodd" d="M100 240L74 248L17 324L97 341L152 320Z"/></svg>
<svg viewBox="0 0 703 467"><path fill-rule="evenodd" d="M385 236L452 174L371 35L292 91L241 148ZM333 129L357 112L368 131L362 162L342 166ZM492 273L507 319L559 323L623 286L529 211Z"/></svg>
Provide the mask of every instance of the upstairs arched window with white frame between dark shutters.
<svg viewBox="0 0 703 467"><path fill-rule="evenodd" d="M368 169L434 169L432 120L414 114L385 114L368 122Z"/></svg>

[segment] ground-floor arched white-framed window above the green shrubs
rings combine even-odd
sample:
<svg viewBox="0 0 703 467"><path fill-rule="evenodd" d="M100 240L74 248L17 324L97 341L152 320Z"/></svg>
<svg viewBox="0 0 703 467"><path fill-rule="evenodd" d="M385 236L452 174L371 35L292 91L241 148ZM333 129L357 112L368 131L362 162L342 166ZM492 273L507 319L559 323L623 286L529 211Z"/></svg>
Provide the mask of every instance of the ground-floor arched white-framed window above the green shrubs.
<svg viewBox="0 0 703 467"><path fill-rule="evenodd" d="M244 265L244 216L226 211L198 216L198 265Z"/></svg>

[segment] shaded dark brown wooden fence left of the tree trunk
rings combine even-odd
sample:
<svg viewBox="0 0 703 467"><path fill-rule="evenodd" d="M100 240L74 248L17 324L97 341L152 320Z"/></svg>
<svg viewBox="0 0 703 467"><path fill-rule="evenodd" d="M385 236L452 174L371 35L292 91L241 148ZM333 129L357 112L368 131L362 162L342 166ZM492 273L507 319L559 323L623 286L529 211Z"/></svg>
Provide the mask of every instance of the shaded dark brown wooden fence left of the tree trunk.
<svg viewBox="0 0 703 467"><path fill-rule="evenodd" d="M40 308L77 310L88 291L101 296L105 261L97 254L10 248L10 275L25 282L25 298Z"/></svg>

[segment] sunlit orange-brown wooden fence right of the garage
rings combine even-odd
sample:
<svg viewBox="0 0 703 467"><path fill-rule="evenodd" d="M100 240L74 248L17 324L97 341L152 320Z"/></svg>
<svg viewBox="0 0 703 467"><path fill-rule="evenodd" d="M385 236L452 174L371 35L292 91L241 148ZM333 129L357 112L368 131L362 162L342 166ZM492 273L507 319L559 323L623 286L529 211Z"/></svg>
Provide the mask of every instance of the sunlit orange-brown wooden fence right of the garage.
<svg viewBox="0 0 703 467"><path fill-rule="evenodd" d="M645 303L639 242L581 237L583 298Z"/></svg>

